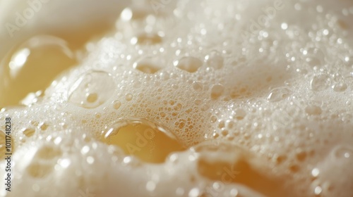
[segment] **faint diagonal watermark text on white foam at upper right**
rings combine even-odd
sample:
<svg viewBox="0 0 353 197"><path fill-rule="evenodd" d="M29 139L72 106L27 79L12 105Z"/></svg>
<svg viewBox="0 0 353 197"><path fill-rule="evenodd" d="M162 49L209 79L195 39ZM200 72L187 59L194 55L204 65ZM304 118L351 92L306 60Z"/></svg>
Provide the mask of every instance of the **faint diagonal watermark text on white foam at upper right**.
<svg viewBox="0 0 353 197"><path fill-rule="evenodd" d="M249 26L249 30L243 30L241 37L247 40L251 34L256 35L270 20L275 18L277 11L281 11L283 8L285 8L285 4L282 0L275 0L273 1L273 6L262 8L263 14L258 16L257 20L250 20L251 25Z"/></svg>

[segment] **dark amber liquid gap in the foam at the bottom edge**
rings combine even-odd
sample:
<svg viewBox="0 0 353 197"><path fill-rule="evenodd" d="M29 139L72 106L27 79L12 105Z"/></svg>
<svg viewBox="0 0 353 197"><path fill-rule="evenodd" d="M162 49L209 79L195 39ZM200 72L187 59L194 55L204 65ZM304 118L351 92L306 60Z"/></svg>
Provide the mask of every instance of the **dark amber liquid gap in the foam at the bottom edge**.
<svg viewBox="0 0 353 197"><path fill-rule="evenodd" d="M240 147L203 143L195 151L201 153L197 170L203 177L223 184L244 184L265 196L286 196L281 179L264 173L258 166L262 163ZM219 155L227 155L229 160Z"/></svg>

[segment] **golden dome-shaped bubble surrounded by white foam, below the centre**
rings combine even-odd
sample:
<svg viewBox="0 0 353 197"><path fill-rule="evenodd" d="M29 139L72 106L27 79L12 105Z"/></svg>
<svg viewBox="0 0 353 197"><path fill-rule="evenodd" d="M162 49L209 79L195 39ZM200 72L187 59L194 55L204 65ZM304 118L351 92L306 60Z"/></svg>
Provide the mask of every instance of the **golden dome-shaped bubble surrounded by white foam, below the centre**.
<svg viewBox="0 0 353 197"><path fill-rule="evenodd" d="M170 153L185 150L174 136L147 120L119 121L104 132L102 141L147 163L163 163Z"/></svg>

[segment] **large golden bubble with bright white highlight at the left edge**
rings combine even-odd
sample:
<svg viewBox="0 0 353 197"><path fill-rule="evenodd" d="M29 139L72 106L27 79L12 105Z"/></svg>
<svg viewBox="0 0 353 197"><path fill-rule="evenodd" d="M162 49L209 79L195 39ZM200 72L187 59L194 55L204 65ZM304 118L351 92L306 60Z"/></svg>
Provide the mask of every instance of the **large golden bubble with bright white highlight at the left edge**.
<svg viewBox="0 0 353 197"><path fill-rule="evenodd" d="M17 105L30 92L43 91L60 72L76 63L63 39L29 39L1 61L0 108Z"/></svg>

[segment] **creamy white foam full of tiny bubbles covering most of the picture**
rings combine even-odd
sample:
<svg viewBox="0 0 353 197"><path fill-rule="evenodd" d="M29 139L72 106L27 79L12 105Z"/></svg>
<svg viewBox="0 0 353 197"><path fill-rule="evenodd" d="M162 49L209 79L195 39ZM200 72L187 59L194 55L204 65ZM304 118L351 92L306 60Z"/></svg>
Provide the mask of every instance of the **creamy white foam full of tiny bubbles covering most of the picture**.
<svg viewBox="0 0 353 197"><path fill-rule="evenodd" d="M43 98L1 113L16 122L1 196L351 196L349 27L310 2L280 5L263 25L258 2L123 11ZM154 165L100 142L136 117L190 149Z"/></svg>

